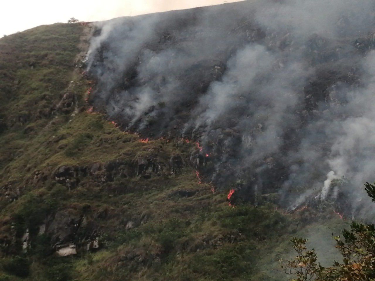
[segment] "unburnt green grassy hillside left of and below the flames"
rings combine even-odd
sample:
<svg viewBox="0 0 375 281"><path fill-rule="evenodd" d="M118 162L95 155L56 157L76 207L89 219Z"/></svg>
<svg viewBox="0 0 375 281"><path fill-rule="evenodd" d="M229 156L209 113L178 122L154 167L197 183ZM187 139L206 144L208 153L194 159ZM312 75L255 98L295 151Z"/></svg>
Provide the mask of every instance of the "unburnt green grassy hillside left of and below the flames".
<svg viewBox="0 0 375 281"><path fill-rule="evenodd" d="M157 132L150 119L148 136L106 112L89 95L101 81L82 65L98 26L0 39L0 281L287 280L278 260L292 255L292 236L332 260L330 234L347 222L330 204L286 212L272 188L228 202L233 185L211 184L191 160L199 138ZM202 65L188 81L207 78Z"/></svg>

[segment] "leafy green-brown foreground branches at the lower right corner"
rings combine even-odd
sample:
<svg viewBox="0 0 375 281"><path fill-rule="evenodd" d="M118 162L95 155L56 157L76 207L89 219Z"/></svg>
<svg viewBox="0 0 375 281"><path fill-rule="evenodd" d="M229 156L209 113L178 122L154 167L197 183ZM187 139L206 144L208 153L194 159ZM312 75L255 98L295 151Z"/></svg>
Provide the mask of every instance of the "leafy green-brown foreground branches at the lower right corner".
<svg viewBox="0 0 375 281"><path fill-rule="evenodd" d="M375 202L375 185L366 182L365 189ZM314 249L307 250L306 239L293 238L297 253L294 260L282 265L286 274L297 279L291 281L374 281L375 280L375 225L353 222L350 230L342 230L342 238L333 236L336 248L343 257L342 263L324 268L317 263Z"/></svg>

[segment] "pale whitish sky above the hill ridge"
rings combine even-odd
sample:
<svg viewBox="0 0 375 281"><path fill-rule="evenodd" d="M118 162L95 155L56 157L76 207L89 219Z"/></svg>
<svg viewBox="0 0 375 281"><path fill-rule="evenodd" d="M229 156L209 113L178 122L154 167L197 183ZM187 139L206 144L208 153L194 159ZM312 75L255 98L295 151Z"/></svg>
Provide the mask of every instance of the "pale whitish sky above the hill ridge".
<svg viewBox="0 0 375 281"><path fill-rule="evenodd" d="M67 22L71 17L101 21L237 1L240 0L0 0L0 37L42 24Z"/></svg>

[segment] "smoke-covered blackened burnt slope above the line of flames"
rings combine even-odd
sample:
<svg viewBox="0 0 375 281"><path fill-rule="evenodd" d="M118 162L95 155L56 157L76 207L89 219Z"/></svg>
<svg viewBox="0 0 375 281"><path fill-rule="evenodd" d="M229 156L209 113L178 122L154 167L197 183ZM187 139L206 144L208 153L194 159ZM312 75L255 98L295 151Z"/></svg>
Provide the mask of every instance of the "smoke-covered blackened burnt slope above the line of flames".
<svg viewBox="0 0 375 281"><path fill-rule="evenodd" d="M101 22L91 102L125 130L199 141L199 168L243 199L366 217L374 12L373 0L262 0Z"/></svg>

